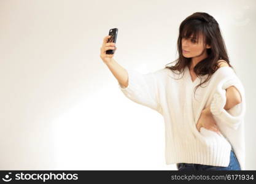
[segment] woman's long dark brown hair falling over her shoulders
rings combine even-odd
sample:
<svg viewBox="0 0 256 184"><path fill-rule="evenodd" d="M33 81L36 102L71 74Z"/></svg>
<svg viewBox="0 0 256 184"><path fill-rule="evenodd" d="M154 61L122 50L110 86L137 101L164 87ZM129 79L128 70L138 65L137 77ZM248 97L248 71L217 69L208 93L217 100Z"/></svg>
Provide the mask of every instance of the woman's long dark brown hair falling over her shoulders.
<svg viewBox="0 0 256 184"><path fill-rule="evenodd" d="M214 74L217 69L219 69L217 61L220 59L227 61L228 65L233 68L228 59L225 42L222 38L222 34L220 33L219 24L214 17L204 12L193 13L185 18L182 23L180 23L179 37L177 40L177 52L179 52L179 58L171 62L176 62L174 66L166 66L165 68L171 69L173 72L184 72L185 67L189 66L192 58L185 58L182 55L181 40L182 37L188 39L190 36L192 36L192 34L193 39L196 40L198 40L198 37L201 34L203 36L204 47L206 44L211 46L211 48L207 48L206 51L208 53L208 57L202 59L193 69L196 76L200 79L200 75L208 75L207 79L204 80L203 83L208 82L208 80L211 79L211 75ZM195 90L198 88L198 86L203 85L203 83L200 82L200 84L196 86Z"/></svg>

